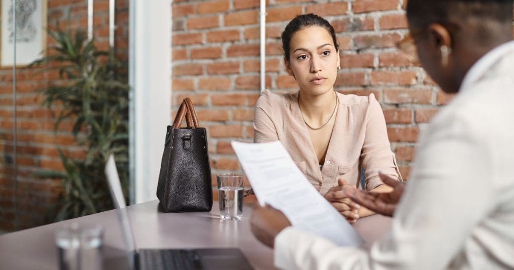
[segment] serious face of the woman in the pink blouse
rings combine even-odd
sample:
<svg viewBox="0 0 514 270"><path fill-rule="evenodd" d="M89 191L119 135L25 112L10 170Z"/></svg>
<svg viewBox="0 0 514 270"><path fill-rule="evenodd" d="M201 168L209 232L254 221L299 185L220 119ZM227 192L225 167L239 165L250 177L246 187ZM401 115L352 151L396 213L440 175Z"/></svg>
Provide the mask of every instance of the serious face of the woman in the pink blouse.
<svg viewBox="0 0 514 270"><path fill-rule="evenodd" d="M320 26L302 28L292 35L289 42L289 62L286 69L294 76L300 91L311 95L322 95L333 91L339 66L339 51L336 50L330 33Z"/></svg>

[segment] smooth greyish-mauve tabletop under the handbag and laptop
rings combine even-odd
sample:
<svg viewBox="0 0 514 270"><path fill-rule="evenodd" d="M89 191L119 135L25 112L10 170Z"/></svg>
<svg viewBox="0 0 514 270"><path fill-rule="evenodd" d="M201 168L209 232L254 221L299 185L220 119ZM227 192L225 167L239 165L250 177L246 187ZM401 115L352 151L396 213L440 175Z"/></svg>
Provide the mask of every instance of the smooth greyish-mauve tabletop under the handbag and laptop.
<svg viewBox="0 0 514 270"><path fill-rule="evenodd" d="M127 207L138 248L239 247L256 269L273 268L272 249L250 231L251 206L245 205L240 221L221 221L217 202L208 213L161 213L157 201ZM111 210L0 236L0 268L57 269L54 233L66 224L101 224L107 259L123 259L125 244L117 211ZM359 219L356 229L369 245L390 227L380 215Z"/></svg>

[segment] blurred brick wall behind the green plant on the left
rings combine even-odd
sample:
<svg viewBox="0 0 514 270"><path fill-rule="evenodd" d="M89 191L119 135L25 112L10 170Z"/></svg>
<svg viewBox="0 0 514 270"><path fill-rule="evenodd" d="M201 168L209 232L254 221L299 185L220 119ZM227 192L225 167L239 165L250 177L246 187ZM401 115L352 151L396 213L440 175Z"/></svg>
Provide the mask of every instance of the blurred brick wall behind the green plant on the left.
<svg viewBox="0 0 514 270"><path fill-rule="evenodd" d="M108 47L108 0L94 2L94 35L99 48ZM128 48L128 0L117 0L116 46L117 53L126 59ZM87 1L48 0L48 27L57 21L61 28L87 29ZM68 20L69 18L69 20ZM47 46L53 40L47 37ZM57 136L53 133L55 119L40 103L42 97L35 91L59 78L56 73L34 73L35 69L17 69L17 175L18 175L18 229L47 223L45 214L57 194L61 182L40 179L31 174L45 169L61 169L56 143L65 153L82 157L85 149L75 145L70 133L70 122L65 122ZM13 101L12 68L0 69L0 231L14 230L13 182Z"/></svg>

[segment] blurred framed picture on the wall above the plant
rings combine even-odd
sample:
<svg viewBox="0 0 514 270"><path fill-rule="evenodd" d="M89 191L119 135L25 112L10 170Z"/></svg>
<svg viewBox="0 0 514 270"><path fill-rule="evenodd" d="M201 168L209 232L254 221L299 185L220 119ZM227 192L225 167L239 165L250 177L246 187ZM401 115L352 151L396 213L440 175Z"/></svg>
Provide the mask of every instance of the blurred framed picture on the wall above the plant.
<svg viewBox="0 0 514 270"><path fill-rule="evenodd" d="M46 46L46 0L0 0L0 11L0 66L24 66L42 57Z"/></svg>

